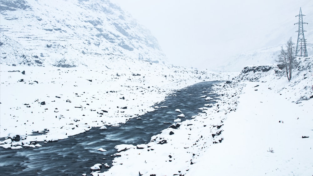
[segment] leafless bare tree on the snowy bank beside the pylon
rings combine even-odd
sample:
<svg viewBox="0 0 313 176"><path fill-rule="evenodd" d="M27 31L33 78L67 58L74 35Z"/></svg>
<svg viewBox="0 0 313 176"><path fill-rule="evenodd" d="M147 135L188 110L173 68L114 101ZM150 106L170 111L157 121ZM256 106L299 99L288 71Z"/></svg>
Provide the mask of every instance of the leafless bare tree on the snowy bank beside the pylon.
<svg viewBox="0 0 313 176"><path fill-rule="evenodd" d="M276 60L280 67L286 69L286 75L288 81L290 81L292 76L292 69L296 66L295 60L295 43L292 42L292 38L287 41L286 43L286 50L281 46L280 54L278 55L278 59Z"/></svg>

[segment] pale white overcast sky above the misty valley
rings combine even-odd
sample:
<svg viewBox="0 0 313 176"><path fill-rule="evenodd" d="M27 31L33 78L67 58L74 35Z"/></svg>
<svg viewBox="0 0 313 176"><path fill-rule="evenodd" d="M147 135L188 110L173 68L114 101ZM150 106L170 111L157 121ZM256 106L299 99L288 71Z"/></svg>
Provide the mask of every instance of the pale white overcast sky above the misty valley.
<svg viewBox="0 0 313 176"><path fill-rule="evenodd" d="M303 14L313 10L312 5L304 7L313 0L110 1L151 31L171 63L201 69L221 58L285 42L291 35L296 40L300 7Z"/></svg>

